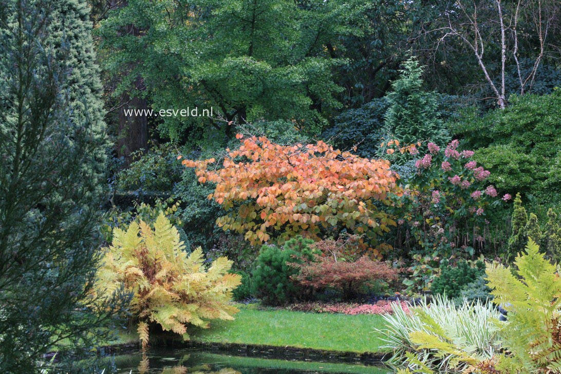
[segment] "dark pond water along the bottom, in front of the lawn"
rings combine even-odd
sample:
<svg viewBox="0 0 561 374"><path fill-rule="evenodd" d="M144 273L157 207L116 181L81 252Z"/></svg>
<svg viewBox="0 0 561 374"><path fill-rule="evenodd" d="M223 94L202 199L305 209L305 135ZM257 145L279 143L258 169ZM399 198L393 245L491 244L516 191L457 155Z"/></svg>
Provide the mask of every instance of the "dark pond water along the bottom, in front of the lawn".
<svg viewBox="0 0 561 374"><path fill-rule="evenodd" d="M256 358L200 349L150 349L111 358L112 372L125 374L257 374L257 373L357 373L385 374L384 366L362 363L297 361L297 359Z"/></svg>

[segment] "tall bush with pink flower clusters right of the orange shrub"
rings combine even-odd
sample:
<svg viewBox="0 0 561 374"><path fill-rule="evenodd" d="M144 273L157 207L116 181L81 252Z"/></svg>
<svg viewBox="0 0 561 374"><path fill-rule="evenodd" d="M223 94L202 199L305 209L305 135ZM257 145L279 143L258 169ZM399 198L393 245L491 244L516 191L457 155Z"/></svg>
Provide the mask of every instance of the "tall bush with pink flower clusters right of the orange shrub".
<svg viewBox="0 0 561 374"><path fill-rule="evenodd" d="M486 183L489 171L471 159L473 151L458 145L454 140L441 149L429 143L403 195L393 196L395 247L432 258L435 266L444 257L473 256L484 248L486 211L510 197L498 196ZM430 266L431 261L425 262Z"/></svg>

